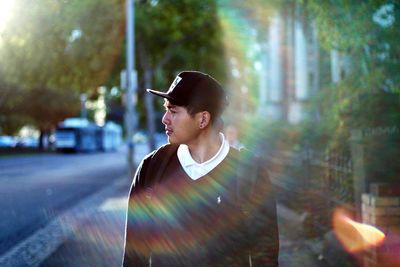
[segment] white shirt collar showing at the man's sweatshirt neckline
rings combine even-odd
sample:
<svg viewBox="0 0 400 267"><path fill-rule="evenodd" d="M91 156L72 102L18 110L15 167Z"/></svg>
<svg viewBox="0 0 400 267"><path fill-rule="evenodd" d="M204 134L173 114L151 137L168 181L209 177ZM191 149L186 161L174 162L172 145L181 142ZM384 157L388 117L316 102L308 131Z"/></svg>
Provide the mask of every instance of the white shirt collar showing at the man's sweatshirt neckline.
<svg viewBox="0 0 400 267"><path fill-rule="evenodd" d="M198 163L190 154L189 147L187 145L180 145L178 147L177 156L179 163L182 165L184 171L190 178L197 180L203 177L210 171L212 171L218 164L220 164L229 153L229 143L225 139L223 133L219 133L221 140L221 147L219 148L217 154L215 154L211 159Z"/></svg>

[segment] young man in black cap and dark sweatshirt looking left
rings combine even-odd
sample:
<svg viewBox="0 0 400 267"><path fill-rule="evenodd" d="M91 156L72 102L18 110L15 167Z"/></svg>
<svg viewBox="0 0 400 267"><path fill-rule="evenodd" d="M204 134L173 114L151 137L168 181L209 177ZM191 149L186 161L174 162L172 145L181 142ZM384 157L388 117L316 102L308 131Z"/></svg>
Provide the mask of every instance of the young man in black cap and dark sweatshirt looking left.
<svg viewBox="0 0 400 267"><path fill-rule="evenodd" d="M278 266L268 173L220 133L227 105L211 76L184 71L164 98L169 144L146 156L129 196L123 266Z"/></svg>

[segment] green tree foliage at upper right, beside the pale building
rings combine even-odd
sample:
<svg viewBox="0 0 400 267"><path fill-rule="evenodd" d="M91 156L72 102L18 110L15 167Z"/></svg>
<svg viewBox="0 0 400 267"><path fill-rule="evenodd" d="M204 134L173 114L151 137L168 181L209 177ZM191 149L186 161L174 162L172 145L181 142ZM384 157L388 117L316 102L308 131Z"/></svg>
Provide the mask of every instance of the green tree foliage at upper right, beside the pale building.
<svg viewBox="0 0 400 267"><path fill-rule="evenodd" d="M322 49L347 56L348 71L325 84L317 101L323 125L349 130L400 123L400 5L396 1L299 1L318 29Z"/></svg>

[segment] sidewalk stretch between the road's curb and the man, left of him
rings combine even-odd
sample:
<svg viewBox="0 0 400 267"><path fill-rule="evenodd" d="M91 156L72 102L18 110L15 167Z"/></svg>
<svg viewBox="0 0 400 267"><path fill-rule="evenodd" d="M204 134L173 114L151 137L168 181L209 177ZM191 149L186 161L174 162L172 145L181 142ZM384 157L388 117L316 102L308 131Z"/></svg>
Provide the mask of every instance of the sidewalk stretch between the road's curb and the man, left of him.
<svg viewBox="0 0 400 267"><path fill-rule="evenodd" d="M95 213L79 222L73 235L39 266L120 266L129 188L129 179L114 186L107 198L92 207Z"/></svg>

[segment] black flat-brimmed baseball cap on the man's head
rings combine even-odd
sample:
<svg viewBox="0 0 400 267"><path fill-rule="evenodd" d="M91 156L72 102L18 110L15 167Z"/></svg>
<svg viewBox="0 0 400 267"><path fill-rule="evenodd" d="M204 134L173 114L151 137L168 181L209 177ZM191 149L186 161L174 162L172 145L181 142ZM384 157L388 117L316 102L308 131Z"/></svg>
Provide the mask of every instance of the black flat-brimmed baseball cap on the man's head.
<svg viewBox="0 0 400 267"><path fill-rule="evenodd" d="M177 106L196 106L214 114L222 112L228 104L221 84L200 71L180 72L166 92L152 89L147 89L147 92L166 98Z"/></svg>

